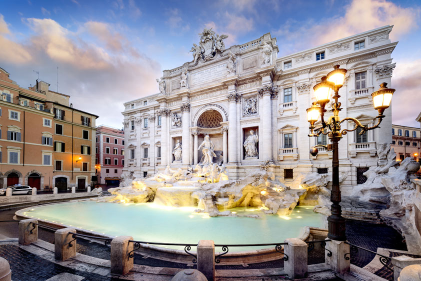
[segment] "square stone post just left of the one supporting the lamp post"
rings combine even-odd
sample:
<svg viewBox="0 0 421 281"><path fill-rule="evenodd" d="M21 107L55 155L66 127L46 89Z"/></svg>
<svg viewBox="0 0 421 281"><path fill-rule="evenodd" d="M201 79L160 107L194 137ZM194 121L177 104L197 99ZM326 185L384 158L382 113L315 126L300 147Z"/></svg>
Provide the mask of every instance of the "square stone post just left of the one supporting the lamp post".
<svg viewBox="0 0 421 281"><path fill-rule="evenodd" d="M288 260L283 261L283 269L291 279L304 278L307 274L307 248L308 245L301 239L288 238L284 240L283 252Z"/></svg>

